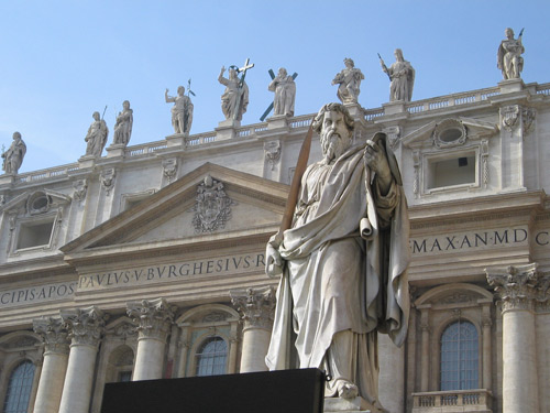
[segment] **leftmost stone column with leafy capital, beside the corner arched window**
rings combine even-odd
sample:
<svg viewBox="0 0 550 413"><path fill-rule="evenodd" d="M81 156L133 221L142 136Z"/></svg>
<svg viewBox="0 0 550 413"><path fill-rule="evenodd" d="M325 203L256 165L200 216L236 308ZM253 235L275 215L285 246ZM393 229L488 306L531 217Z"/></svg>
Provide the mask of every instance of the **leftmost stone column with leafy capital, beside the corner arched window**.
<svg viewBox="0 0 550 413"><path fill-rule="evenodd" d="M67 371L68 333L61 318L37 318L33 320L33 326L44 344L44 360L34 413L57 413Z"/></svg>

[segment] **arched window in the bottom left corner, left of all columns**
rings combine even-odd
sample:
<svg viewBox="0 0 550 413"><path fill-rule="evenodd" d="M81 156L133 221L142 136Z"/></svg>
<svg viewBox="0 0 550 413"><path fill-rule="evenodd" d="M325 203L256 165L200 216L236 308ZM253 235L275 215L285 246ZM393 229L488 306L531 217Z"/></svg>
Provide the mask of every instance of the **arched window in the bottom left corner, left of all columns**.
<svg viewBox="0 0 550 413"><path fill-rule="evenodd" d="M34 378L34 365L25 360L13 369L3 403L4 413L26 413Z"/></svg>

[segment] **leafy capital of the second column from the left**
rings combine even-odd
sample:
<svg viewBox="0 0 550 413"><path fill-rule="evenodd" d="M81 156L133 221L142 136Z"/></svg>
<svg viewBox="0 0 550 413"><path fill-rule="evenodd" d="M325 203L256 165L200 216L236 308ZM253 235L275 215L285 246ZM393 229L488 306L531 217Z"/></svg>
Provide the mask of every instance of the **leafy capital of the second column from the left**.
<svg viewBox="0 0 550 413"><path fill-rule="evenodd" d="M67 324L70 345L97 347L103 335L106 315L96 306L62 309L62 320Z"/></svg>

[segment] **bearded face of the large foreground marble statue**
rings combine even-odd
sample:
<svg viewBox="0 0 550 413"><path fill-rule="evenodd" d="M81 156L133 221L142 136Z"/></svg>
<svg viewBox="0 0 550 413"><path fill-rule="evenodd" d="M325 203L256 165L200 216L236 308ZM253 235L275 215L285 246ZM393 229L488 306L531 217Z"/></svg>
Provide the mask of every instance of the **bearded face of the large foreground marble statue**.
<svg viewBox="0 0 550 413"><path fill-rule="evenodd" d="M351 132L344 116L338 111L324 113L321 127L321 149L327 163L338 159L351 145Z"/></svg>

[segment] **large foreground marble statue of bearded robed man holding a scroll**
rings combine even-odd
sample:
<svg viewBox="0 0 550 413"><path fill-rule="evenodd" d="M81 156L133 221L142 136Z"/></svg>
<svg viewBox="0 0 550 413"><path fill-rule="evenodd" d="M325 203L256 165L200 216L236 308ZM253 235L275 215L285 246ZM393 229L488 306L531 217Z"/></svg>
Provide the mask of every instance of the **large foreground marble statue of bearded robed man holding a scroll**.
<svg viewBox="0 0 550 413"><path fill-rule="evenodd" d="M266 272L282 278L265 361L326 370L327 396L360 395L376 407L376 333L400 346L408 324L400 174L384 133L352 146L343 105L323 106L314 129L324 157L301 177L292 228L267 244Z"/></svg>

